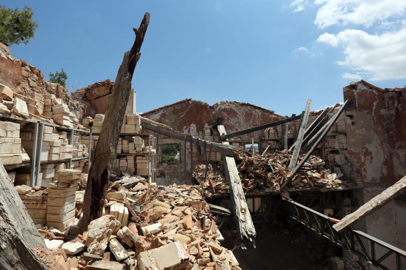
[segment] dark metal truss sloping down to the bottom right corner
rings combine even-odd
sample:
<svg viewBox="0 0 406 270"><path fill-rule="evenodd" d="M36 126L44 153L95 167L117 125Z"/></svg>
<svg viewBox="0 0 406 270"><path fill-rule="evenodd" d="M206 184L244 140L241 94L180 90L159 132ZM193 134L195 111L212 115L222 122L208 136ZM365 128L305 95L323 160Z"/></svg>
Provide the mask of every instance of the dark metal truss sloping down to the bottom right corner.
<svg viewBox="0 0 406 270"><path fill-rule="evenodd" d="M405 269L401 259L402 257L406 259L406 252L391 244L357 230L346 229L339 233L333 229L333 225L338 222L337 219L323 215L293 200L284 200L283 209L293 219L379 269L389 270L391 269L389 264L396 265L396 270ZM379 253L383 255L377 255L378 249L380 249Z"/></svg>

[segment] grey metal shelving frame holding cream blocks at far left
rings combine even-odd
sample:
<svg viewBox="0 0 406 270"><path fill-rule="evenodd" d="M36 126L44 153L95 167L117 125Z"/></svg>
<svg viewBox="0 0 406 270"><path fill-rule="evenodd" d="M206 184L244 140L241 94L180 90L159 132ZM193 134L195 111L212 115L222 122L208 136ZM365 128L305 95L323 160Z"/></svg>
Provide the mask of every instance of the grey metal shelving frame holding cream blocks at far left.
<svg viewBox="0 0 406 270"><path fill-rule="evenodd" d="M31 162L26 162L22 164L13 164L13 165L6 165L4 166L6 169L11 170L14 168L20 168L23 166L31 166L31 180L30 180L30 185L34 186L39 183L39 170L42 164L52 164L52 163L68 163L68 167L72 167L72 161L76 160L81 160L81 159L87 159L90 157L90 148L91 148L91 132L87 132L86 130L80 130L77 128L68 128L62 125L57 125L55 123L47 123L47 122L41 122L41 121L35 121L31 119L24 119L22 117L17 117L14 115L5 115L0 113L0 119L8 119L13 120L13 121L22 121L30 124L34 124L34 138L33 138L33 143L34 145L32 146L32 160ZM42 142L43 140L38 141L38 132L39 132L39 138L43 138L44 135L44 127L45 125L52 126L55 128L58 128L60 130L67 130L69 131L69 138L68 141L70 141L71 144L73 144L73 134L75 131L78 132L83 132L85 134L89 134L89 153L88 156L86 157L72 157L69 159L64 159L64 160L56 160L56 161L44 161L41 162L41 151L42 151ZM39 142L39 143L38 143ZM90 160L89 160L89 168L90 168Z"/></svg>

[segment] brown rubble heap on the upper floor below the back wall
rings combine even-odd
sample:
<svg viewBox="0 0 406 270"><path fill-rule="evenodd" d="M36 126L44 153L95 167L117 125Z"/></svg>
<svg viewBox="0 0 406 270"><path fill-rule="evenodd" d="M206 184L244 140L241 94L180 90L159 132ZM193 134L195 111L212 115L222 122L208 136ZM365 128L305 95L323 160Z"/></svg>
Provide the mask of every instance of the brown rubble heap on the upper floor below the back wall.
<svg viewBox="0 0 406 270"><path fill-rule="evenodd" d="M245 192L254 191L280 191L281 186L290 177L289 166L292 153L288 150L275 151L263 155L253 155L247 151L236 151L235 162L237 164L242 187ZM299 156L299 160L303 155ZM289 190L326 188L340 189L351 187L354 184L343 179L339 168L334 172L324 168L325 162L315 155L311 155L304 166L296 173ZM193 172L194 179L200 183L205 193L228 193L229 187L225 179L224 169L221 162L209 164L207 179L205 179L206 166L197 165Z"/></svg>

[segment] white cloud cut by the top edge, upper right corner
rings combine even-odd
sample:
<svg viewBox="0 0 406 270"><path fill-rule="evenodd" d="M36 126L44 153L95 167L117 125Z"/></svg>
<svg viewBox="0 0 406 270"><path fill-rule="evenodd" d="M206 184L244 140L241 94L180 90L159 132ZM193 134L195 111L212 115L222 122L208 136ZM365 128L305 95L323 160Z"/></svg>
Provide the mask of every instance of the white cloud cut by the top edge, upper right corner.
<svg viewBox="0 0 406 270"><path fill-rule="evenodd" d="M314 21L322 29L348 23L369 27L406 13L405 0L315 0L315 4L322 5Z"/></svg>

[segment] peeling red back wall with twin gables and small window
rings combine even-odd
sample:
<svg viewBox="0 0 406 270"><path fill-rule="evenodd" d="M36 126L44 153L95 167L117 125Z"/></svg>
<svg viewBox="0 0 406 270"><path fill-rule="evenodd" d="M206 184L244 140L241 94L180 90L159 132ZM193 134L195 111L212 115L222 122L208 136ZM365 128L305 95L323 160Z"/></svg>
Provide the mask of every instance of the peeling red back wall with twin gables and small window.
<svg viewBox="0 0 406 270"><path fill-rule="evenodd" d="M144 117L169 125L178 132L192 134L195 137L203 138L203 127L206 123L209 125L214 119L222 117L223 124L227 132L235 132L257 125L269 123L281 119L273 111L241 102L218 102L212 106L205 102L197 100L182 100L174 104L164 106L143 114ZM241 136L247 143L251 143L251 138L259 142L263 136L263 131L254 132ZM159 185L168 185L172 183L191 184L191 162L190 162L190 144L186 145L186 170L184 166L184 142L160 136L159 144L179 143L181 146L180 164L157 164L157 183ZM197 150L193 146L194 165L197 164ZM203 150L203 147L202 147ZM160 153L160 151L158 151ZM159 155L159 154L158 154ZM201 157L201 162L203 156Z"/></svg>

